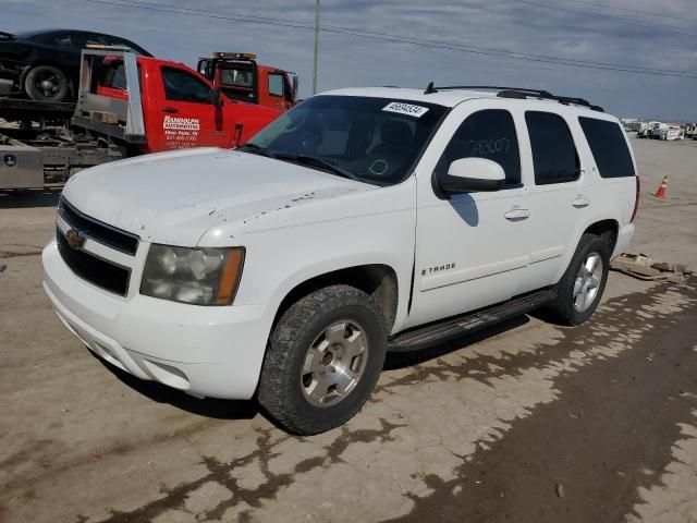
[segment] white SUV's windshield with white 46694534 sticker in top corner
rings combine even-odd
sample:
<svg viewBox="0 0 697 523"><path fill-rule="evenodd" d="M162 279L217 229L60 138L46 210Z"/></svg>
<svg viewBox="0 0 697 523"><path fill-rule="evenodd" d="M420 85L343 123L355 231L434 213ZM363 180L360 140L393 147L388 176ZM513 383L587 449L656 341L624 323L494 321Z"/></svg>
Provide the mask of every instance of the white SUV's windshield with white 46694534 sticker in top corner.
<svg viewBox="0 0 697 523"><path fill-rule="evenodd" d="M445 110L421 101L315 96L283 113L242 150L393 185L411 174Z"/></svg>

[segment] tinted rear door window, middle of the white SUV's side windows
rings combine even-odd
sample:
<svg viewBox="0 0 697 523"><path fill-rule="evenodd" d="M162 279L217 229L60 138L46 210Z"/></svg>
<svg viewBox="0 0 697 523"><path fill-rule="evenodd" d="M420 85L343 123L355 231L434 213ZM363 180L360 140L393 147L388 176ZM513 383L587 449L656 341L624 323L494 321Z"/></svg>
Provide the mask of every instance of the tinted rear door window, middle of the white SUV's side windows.
<svg viewBox="0 0 697 523"><path fill-rule="evenodd" d="M580 175L580 163L568 125L552 112L527 111L527 131L530 135L535 183L573 182Z"/></svg>

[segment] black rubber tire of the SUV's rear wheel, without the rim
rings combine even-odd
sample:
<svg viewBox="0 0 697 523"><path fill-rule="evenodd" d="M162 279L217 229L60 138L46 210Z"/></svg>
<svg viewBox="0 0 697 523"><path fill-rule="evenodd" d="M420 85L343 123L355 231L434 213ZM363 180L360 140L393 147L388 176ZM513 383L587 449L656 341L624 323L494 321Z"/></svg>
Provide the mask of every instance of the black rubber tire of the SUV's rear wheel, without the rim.
<svg viewBox="0 0 697 523"><path fill-rule="evenodd" d="M576 277L580 270L580 266L594 253L599 254L602 262L600 284L597 287L598 291L592 302L587 305L587 308L578 311L574 306L574 287L576 283ZM580 236L576 252L574 253L564 276L562 276L562 279L559 280L559 283L557 284L557 300L550 305L552 312L562 323L566 325L579 325L590 318L598 307L598 303L600 303L600 299L602 297L602 292L606 289L609 268L610 245L608 244L607 239L589 233Z"/></svg>

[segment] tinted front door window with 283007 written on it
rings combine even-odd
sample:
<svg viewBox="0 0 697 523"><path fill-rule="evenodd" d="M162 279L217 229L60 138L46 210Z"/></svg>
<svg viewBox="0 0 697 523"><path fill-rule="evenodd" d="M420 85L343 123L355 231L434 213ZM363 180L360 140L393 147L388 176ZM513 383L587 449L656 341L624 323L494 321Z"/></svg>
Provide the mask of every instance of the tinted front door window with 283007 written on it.
<svg viewBox="0 0 697 523"><path fill-rule="evenodd" d="M487 109L467 117L445 147L436 171L447 174L453 161L470 157L499 163L505 172L506 185L521 183L518 141L509 111Z"/></svg>

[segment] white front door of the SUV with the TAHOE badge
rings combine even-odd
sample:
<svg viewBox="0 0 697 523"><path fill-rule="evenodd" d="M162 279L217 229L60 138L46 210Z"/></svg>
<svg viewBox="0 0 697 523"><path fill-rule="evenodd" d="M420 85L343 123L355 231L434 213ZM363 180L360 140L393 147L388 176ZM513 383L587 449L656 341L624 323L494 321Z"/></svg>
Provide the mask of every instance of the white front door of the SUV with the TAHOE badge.
<svg viewBox="0 0 697 523"><path fill-rule="evenodd" d="M529 258L528 193L521 179L515 119L501 107L505 106L499 101L492 108L489 100L456 107L432 143L438 143L439 136L452 139L440 156L421 161L426 172L417 173L409 326L505 301L518 293L525 279ZM498 162L505 172L504 188L440 194L435 173L447 171L454 160L466 157Z"/></svg>

